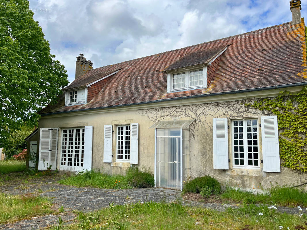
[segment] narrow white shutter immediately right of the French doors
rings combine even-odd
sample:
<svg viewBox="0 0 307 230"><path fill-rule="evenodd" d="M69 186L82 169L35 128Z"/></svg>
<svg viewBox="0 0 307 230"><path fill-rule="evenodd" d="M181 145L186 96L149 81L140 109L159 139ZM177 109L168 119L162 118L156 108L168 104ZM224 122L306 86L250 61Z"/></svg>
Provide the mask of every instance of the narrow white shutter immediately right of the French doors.
<svg viewBox="0 0 307 230"><path fill-rule="evenodd" d="M93 146L93 126L84 127L84 158L83 167L85 170L92 169L92 146Z"/></svg>

